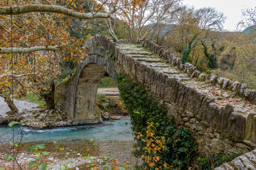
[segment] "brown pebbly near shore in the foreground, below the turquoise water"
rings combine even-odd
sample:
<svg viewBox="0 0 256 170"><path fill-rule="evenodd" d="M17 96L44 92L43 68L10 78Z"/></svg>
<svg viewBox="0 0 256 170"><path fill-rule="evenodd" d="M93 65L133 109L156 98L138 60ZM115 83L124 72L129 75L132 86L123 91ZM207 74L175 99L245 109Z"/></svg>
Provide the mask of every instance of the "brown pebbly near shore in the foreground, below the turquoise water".
<svg viewBox="0 0 256 170"><path fill-rule="evenodd" d="M28 162L35 159L36 155L28 152L28 147L32 145L38 145L42 142L26 142L22 143L19 147L17 154L18 164L22 169L28 168ZM48 168L60 169L63 168L63 164L66 164L69 169L90 169L92 166L102 166L102 162L105 162L104 166L111 166L113 159L118 159L120 163L118 166L124 166L122 163L127 163L130 166L137 164L137 158L132 156L134 141L107 141L97 142L90 140L74 140L74 141L60 141L59 147L55 147L53 142L43 142L46 144L44 152L51 154L41 159L41 164L50 162ZM11 146L7 147L11 150ZM60 151L63 148L63 151ZM0 168L6 170L13 169L13 162L6 161L3 158L6 157L4 148L0 147ZM69 153L69 154L67 154ZM66 157L68 155L68 157ZM65 158L66 157L66 158ZM17 166L17 165L16 165Z"/></svg>

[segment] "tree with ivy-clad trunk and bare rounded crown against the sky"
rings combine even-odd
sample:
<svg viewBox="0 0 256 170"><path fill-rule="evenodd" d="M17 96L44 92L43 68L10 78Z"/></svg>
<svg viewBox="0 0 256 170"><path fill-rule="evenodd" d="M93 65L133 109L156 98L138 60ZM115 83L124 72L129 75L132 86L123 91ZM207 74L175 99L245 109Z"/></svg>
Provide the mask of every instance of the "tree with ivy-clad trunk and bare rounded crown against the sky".
<svg viewBox="0 0 256 170"><path fill-rule="evenodd" d="M212 31L222 29L225 17L215 8L196 10L183 6L176 13L175 20L176 27L173 36L181 44L182 62L185 63L190 60L191 51L198 47L202 40L206 40Z"/></svg>

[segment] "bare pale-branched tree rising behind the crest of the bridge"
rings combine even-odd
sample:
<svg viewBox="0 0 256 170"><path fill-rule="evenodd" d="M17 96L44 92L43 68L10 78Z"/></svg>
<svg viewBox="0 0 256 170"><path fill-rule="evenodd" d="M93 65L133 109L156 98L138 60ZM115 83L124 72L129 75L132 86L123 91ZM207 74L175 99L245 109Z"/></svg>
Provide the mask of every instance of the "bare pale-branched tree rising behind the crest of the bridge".
<svg viewBox="0 0 256 170"><path fill-rule="evenodd" d="M159 30L171 24L172 15L179 4L180 0L141 0L139 5L130 4L130 8L123 8L122 4L117 8L117 21L121 21L127 38L157 39L160 38Z"/></svg>

